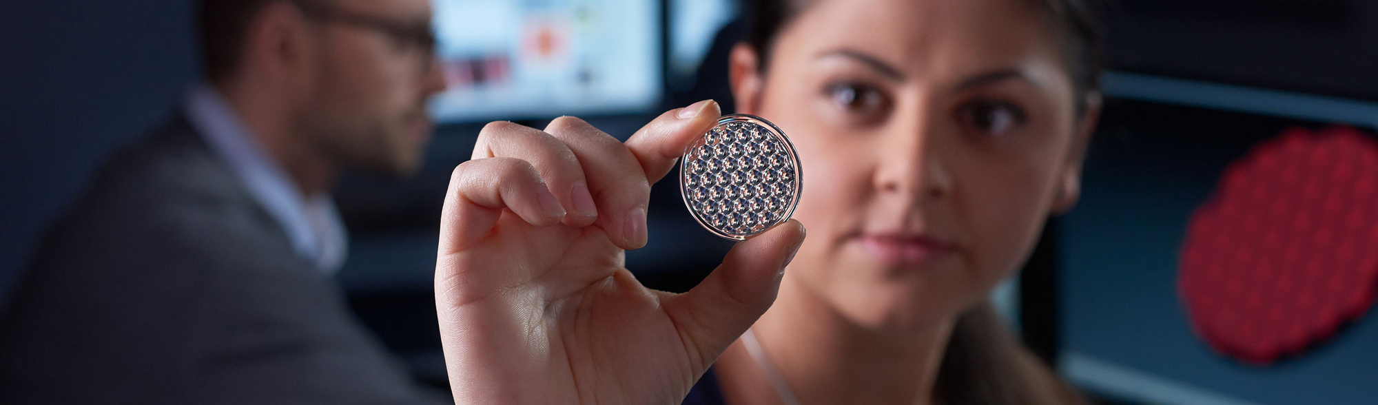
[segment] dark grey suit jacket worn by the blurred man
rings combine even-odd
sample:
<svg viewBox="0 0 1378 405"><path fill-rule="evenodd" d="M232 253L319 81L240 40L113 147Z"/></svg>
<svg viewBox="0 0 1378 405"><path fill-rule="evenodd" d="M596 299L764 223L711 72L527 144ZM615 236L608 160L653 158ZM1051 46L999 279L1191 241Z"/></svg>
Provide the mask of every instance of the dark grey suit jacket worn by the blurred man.
<svg viewBox="0 0 1378 405"><path fill-rule="evenodd" d="M431 404L181 117L109 161L0 320L0 404Z"/></svg>

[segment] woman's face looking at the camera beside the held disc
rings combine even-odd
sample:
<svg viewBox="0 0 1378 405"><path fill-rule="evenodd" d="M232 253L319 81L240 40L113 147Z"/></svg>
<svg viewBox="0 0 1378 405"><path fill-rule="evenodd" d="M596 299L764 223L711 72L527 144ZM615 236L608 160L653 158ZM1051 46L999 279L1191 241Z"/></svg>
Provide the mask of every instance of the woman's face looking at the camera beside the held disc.
<svg viewBox="0 0 1378 405"><path fill-rule="evenodd" d="M930 325L1014 273L1078 194L1094 118L1034 1L820 0L769 70L733 51L740 110L803 161L787 284L863 325ZM1084 117L1094 117L1091 106Z"/></svg>

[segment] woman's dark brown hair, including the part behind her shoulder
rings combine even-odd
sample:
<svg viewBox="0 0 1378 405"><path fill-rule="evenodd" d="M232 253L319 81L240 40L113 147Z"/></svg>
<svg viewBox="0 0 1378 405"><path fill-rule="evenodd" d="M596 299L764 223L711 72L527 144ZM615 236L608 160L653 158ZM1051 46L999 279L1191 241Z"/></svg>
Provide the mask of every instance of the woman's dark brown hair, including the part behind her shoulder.
<svg viewBox="0 0 1378 405"><path fill-rule="evenodd" d="M757 50L759 69L769 70L774 40L816 0L751 0L747 10L747 43ZM1084 96L1100 91L1104 63L1102 28L1097 0L1018 0L1043 10L1053 32L1061 36L1062 61L1072 79L1076 112ZM1043 405L1076 404L1080 397L1047 365L1028 351L1006 328L988 302L958 317L934 384L940 404Z"/></svg>

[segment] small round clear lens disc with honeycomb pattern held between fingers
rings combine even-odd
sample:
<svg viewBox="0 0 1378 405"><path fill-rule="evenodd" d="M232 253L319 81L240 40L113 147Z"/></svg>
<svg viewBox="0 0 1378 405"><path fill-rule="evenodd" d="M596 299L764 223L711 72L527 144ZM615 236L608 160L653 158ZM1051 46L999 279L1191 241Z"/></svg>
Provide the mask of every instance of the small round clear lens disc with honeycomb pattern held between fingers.
<svg viewBox="0 0 1378 405"><path fill-rule="evenodd" d="M685 153L679 190L717 236L745 240L790 219L799 204L799 157L769 121L730 114Z"/></svg>

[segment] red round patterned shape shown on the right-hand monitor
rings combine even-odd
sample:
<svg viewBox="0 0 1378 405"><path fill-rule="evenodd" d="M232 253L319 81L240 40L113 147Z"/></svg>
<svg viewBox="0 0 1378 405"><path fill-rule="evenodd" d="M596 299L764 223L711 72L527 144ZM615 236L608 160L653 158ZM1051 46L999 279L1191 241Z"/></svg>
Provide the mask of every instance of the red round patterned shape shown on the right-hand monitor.
<svg viewBox="0 0 1378 405"><path fill-rule="evenodd" d="M1196 209L1178 292L1213 349L1266 365L1328 340L1378 295L1378 143L1288 129Z"/></svg>

